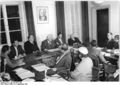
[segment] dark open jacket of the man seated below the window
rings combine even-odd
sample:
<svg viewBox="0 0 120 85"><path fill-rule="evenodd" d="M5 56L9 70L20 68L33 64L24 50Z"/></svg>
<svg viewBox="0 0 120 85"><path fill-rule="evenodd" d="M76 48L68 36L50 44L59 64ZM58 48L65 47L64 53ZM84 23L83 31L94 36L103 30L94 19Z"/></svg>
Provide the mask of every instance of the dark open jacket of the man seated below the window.
<svg viewBox="0 0 120 85"><path fill-rule="evenodd" d="M21 45L18 45L18 46L17 46L17 50L18 50L18 55L25 53L24 50L22 49ZM15 58L15 56L16 56L16 50L15 50L15 47L12 45L12 46L10 47L9 57L10 57L10 59L12 59L12 58Z"/></svg>

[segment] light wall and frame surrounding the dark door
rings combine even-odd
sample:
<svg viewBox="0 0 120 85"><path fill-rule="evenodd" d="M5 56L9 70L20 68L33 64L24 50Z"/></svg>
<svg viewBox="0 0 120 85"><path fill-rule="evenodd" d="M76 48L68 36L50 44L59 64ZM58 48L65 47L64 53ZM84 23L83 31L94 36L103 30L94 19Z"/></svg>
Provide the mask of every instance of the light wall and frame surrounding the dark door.
<svg viewBox="0 0 120 85"><path fill-rule="evenodd" d="M120 34L120 2L119 1L106 1L101 4L89 2L89 28L90 40L96 39L96 15L93 13L94 9L109 7L109 32L113 35Z"/></svg>

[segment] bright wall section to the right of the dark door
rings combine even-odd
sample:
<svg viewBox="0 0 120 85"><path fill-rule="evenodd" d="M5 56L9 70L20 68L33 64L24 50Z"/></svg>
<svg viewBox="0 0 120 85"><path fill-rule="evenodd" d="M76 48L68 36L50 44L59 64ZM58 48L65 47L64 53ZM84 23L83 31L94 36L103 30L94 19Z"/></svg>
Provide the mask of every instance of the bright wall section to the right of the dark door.
<svg viewBox="0 0 120 85"><path fill-rule="evenodd" d="M114 35L119 34L120 29L120 1L109 1L102 5L110 5L110 28L109 31Z"/></svg>

